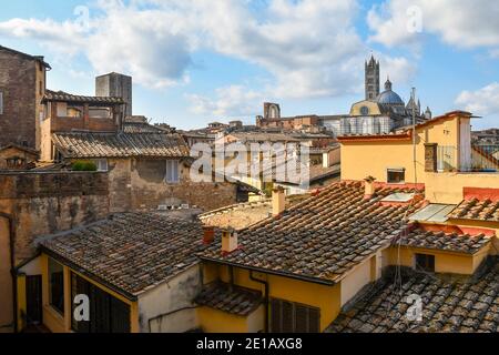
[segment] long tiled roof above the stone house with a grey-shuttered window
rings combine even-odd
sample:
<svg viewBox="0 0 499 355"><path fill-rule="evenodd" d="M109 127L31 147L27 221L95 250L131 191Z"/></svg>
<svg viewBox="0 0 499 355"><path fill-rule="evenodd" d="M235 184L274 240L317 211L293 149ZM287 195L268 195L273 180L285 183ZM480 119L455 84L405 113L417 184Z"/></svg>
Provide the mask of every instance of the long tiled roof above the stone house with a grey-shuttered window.
<svg viewBox="0 0 499 355"><path fill-rule="evenodd" d="M179 134L165 133L53 133L64 158L183 158L189 148Z"/></svg>

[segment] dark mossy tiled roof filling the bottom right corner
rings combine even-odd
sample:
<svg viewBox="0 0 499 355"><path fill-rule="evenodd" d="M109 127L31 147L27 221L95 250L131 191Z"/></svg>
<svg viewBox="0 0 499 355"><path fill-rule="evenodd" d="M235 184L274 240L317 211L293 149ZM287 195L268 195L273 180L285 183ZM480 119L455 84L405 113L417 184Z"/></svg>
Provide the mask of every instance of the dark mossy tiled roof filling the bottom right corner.
<svg viewBox="0 0 499 355"><path fill-rule="evenodd" d="M391 275L344 311L326 332L497 333L499 262L491 261L489 267L482 275L459 281L408 273L398 283ZM422 298L422 322L406 317L413 294Z"/></svg>

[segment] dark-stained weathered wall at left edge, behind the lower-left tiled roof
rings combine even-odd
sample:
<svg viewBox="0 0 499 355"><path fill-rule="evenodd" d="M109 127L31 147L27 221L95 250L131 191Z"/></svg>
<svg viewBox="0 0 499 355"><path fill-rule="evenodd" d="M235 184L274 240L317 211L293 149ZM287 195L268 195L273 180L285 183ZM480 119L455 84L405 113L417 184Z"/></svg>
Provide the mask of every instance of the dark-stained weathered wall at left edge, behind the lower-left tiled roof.
<svg viewBox="0 0 499 355"><path fill-rule="evenodd" d="M104 217L108 189L105 173L0 173L0 211L14 219L17 262L32 256L35 236Z"/></svg>

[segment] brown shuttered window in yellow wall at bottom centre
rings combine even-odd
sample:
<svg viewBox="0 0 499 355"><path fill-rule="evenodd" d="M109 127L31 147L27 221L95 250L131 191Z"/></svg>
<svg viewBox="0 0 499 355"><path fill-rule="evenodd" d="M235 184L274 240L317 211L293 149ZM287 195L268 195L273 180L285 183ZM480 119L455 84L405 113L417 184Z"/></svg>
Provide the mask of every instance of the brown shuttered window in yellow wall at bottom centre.
<svg viewBox="0 0 499 355"><path fill-rule="evenodd" d="M271 301L272 333L319 333L320 310L298 303Z"/></svg>

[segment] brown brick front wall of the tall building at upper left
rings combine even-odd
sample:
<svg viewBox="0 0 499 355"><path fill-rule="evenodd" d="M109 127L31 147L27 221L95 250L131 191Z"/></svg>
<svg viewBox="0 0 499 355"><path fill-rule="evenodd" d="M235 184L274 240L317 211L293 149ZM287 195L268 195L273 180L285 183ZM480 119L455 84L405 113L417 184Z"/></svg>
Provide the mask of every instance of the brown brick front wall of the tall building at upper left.
<svg viewBox="0 0 499 355"><path fill-rule="evenodd" d="M8 143L37 148L37 61L0 49L0 146Z"/></svg>

